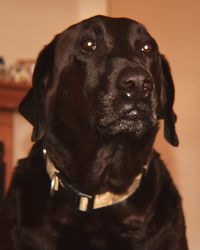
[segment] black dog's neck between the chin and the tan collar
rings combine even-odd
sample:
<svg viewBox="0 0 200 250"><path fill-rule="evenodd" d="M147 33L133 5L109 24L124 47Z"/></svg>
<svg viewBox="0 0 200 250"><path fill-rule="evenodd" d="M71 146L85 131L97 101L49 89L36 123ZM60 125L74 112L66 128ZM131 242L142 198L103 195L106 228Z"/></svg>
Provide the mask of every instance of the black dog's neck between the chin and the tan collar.
<svg viewBox="0 0 200 250"><path fill-rule="evenodd" d="M140 140L131 138L131 135L102 141L83 138L84 143L73 142L72 146L68 141L66 147L60 146L56 150L52 150L51 138L45 148L50 159L76 189L92 194L107 191L120 194L147 164L156 131L152 129Z"/></svg>

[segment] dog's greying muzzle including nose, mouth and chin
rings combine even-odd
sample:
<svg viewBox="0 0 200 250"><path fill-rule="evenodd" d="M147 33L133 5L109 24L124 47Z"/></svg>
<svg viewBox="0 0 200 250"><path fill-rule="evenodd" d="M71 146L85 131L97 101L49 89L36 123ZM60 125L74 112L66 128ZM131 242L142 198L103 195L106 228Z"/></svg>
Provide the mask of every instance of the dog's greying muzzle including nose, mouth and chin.
<svg viewBox="0 0 200 250"><path fill-rule="evenodd" d="M109 88L101 93L98 129L116 135L144 135L157 123L154 80L141 66L125 65L109 78Z"/></svg>

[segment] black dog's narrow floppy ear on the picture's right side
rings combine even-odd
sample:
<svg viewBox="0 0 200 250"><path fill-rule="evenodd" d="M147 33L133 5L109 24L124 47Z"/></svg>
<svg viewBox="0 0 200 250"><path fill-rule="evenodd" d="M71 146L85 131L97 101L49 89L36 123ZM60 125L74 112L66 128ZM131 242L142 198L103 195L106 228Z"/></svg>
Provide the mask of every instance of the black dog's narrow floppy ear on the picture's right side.
<svg viewBox="0 0 200 250"><path fill-rule="evenodd" d="M178 146L179 140L176 134L176 114L173 111L174 83L167 59L161 55L163 86L162 86L162 118L164 119L165 139L173 146Z"/></svg>

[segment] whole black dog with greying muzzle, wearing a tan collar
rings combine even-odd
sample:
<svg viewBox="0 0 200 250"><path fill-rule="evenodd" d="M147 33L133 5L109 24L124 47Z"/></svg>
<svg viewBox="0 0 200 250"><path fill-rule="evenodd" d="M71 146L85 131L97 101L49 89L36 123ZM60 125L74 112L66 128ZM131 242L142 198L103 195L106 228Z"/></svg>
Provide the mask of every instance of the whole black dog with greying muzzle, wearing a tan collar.
<svg viewBox="0 0 200 250"><path fill-rule="evenodd" d="M152 149L178 145L169 65L139 23L97 16L39 55L20 113L35 144L1 215L1 250L186 250L180 196Z"/></svg>

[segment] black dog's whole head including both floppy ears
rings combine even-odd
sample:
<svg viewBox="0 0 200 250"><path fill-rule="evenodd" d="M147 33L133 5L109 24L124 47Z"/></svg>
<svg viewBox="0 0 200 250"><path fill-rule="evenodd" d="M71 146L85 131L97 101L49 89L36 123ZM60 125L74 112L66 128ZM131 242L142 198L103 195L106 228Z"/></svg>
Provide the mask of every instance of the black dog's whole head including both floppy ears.
<svg viewBox="0 0 200 250"><path fill-rule="evenodd" d="M34 141L49 130L141 138L164 119L165 138L177 146L173 102L168 62L144 26L96 16L43 49L19 110Z"/></svg>

